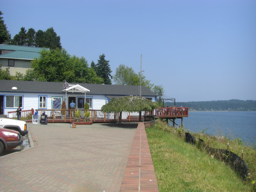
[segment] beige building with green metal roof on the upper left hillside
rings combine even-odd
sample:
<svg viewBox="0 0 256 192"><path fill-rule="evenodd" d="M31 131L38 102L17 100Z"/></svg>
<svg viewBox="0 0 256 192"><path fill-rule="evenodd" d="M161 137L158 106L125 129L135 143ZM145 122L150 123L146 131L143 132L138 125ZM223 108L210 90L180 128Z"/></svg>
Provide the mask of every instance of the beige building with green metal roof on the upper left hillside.
<svg viewBox="0 0 256 192"><path fill-rule="evenodd" d="M26 70L30 69L31 61L39 57L43 49L50 50L41 47L0 44L2 70L9 67L10 75L15 76L16 72L25 74Z"/></svg>

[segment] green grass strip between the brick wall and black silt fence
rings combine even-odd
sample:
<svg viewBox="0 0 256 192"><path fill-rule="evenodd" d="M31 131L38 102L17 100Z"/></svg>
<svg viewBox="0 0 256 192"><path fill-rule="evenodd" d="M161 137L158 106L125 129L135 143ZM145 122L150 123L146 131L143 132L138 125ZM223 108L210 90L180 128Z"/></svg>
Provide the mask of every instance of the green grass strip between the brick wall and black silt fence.
<svg viewBox="0 0 256 192"><path fill-rule="evenodd" d="M160 191L253 191L225 163L184 142L182 131L159 123L146 132Z"/></svg>

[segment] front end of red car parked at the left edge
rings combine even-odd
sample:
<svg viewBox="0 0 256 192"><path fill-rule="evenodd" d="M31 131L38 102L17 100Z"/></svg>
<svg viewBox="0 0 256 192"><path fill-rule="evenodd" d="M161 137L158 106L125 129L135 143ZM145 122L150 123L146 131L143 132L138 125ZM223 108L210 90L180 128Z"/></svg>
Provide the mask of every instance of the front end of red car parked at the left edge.
<svg viewBox="0 0 256 192"><path fill-rule="evenodd" d="M3 150L11 150L22 143L21 135L18 131L0 128L0 154Z"/></svg>

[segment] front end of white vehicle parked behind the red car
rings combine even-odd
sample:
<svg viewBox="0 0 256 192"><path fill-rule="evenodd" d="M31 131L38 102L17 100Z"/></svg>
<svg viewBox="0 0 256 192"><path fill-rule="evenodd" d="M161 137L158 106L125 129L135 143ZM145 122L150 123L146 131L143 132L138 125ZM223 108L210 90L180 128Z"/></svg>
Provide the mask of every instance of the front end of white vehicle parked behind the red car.
<svg viewBox="0 0 256 192"><path fill-rule="evenodd" d="M25 121L8 119L8 118L0 118L0 128L11 129L18 131L21 136L25 136L28 134L27 123Z"/></svg>

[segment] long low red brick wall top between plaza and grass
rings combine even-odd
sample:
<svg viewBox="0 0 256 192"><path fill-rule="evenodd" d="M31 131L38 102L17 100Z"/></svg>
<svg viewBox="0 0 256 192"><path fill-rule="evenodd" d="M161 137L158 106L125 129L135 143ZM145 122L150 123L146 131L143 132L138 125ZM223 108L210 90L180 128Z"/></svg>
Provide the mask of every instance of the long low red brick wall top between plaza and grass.
<svg viewBox="0 0 256 192"><path fill-rule="evenodd" d="M143 122L137 127L120 191L159 191Z"/></svg>

